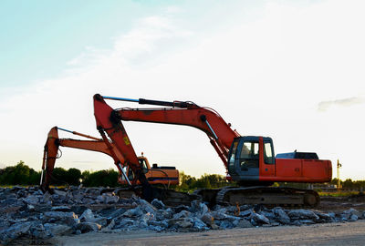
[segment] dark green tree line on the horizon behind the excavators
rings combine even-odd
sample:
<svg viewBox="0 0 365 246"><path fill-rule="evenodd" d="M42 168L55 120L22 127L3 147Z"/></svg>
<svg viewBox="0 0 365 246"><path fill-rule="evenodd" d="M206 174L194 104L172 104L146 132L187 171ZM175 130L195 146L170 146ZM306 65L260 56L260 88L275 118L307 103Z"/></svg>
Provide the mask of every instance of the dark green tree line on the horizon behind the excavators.
<svg viewBox="0 0 365 246"><path fill-rule="evenodd" d="M39 185L41 171L29 168L24 161L20 160L16 166L0 169L0 185ZM79 169L55 168L52 173L51 185L80 185L85 187L118 187L119 172L114 169L81 172ZM339 180L343 190L363 190L365 180L345 179ZM334 178L329 183L337 185L338 179ZM196 189L217 189L224 186L233 186L235 183L228 182L224 175L204 174L195 178L180 172L180 185L175 190L193 191ZM276 186L293 186L293 184L276 183ZM307 184L297 184L297 188L306 189Z"/></svg>

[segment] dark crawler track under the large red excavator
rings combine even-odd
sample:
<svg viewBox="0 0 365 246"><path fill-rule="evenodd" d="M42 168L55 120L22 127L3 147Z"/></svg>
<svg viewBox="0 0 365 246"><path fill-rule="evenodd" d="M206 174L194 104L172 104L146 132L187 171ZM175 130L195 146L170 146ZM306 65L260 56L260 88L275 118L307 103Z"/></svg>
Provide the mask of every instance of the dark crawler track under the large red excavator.
<svg viewBox="0 0 365 246"><path fill-rule="evenodd" d="M269 207L316 207L320 201L314 190L261 186L224 188L216 193L215 200L217 204L263 204Z"/></svg>

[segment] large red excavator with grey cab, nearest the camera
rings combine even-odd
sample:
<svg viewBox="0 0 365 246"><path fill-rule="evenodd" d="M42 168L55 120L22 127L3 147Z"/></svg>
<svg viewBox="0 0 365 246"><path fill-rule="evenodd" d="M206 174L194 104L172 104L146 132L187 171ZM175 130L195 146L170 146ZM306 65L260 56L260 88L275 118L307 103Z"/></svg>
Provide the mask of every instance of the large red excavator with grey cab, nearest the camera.
<svg viewBox="0 0 365 246"><path fill-rule="evenodd" d="M113 109L106 99L130 101L164 108ZM206 133L210 143L224 162L227 179L240 187L222 190L203 190L203 200L229 204L272 204L317 206L318 193L314 190L270 187L274 182L323 183L331 180L330 160L318 159L316 153L292 152L275 156L272 138L241 136L212 108L203 108L193 102L158 101L121 97L94 96L94 115L104 141L111 142L120 152L129 153L130 167L140 174L142 185L149 186L141 172L139 161L132 150L122 120L185 125ZM148 190L148 189L147 189Z"/></svg>

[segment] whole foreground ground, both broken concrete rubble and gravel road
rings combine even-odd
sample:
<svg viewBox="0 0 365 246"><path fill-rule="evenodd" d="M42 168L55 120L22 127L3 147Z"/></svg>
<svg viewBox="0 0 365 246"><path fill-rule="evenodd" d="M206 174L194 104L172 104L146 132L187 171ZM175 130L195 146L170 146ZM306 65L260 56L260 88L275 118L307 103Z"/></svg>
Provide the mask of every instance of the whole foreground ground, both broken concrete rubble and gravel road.
<svg viewBox="0 0 365 246"><path fill-rule="evenodd" d="M309 208L166 207L116 190L0 190L0 245L365 245L365 196Z"/></svg>

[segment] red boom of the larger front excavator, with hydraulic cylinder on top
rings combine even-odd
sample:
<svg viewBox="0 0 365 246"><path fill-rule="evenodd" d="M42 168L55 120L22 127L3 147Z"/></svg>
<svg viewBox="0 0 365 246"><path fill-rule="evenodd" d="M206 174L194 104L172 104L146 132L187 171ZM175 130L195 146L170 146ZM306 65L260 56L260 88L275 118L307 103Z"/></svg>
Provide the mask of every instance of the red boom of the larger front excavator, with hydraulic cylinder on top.
<svg viewBox="0 0 365 246"><path fill-rule="evenodd" d="M94 96L99 98L99 102L105 104L96 110L96 114L105 114L105 118L109 117L108 128L118 126L120 120L132 120L142 122L154 122L173 125L184 125L193 128L198 128L205 132L210 143L214 147L218 156L224 162L224 167L227 167L227 157L229 149L234 141L234 138L240 135L227 124L224 119L211 108L202 108L192 102L166 102L148 99L128 99L120 97L102 97L100 95ZM165 106L166 108L120 108L112 109L104 101L105 99L132 101L139 104ZM94 99L95 104L95 99ZM108 108L105 109L105 108ZM100 110L100 112L97 112ZM104 111L102 111L104 110ZM98 119L97 119L98 121ZM115 130L110 129L110 133ZM122 130L120 129L121 134ZM110 137L111 138L111 137ZM125 137L123 137L125 138ZM118 138L116 138L118 140ZM120 139L119 139L120 140ZM114 141L114 139L113 139ZM122 144L123 145L123 144ZM124 145L123 145L123 148Z"/></svg>

